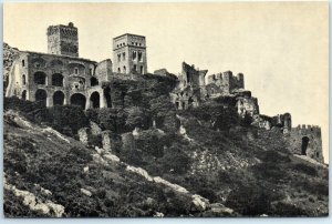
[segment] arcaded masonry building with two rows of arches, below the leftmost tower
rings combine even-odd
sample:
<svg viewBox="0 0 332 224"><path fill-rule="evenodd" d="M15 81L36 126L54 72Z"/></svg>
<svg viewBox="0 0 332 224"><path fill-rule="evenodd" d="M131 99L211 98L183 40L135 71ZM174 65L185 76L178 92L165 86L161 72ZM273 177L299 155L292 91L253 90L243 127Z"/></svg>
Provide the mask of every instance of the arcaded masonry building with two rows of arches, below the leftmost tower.
<svg viewBox="0 0 332 224"><path fill-rule="evenodd" d="M54 105L54 102L56 104L72 104L71 101L74 96L80 95L85 99L84 109L96 105L103 108L106 106L106 102L102 86L92 86L95 67L96 62L85 59L20 52L13 64L6 95L37 101L39 93L42 93L42 101L46 106ZM43 79L37 79L37 77L43 77ZM63 98L61 103L59 103L59 98L56 100L56 95ZM96 103L96 101L98 102Z"/></svg>

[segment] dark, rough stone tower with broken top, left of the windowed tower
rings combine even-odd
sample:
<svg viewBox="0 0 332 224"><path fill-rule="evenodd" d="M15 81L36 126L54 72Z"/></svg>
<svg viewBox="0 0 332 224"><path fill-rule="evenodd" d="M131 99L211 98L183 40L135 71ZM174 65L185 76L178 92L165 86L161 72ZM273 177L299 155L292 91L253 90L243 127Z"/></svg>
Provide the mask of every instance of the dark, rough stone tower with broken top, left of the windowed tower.
<svg viewBox="0 0 332 224"><path fill-rule="evenodd" d="M79 57L79 31L72 22L48 28L48 52Z"/></svg>

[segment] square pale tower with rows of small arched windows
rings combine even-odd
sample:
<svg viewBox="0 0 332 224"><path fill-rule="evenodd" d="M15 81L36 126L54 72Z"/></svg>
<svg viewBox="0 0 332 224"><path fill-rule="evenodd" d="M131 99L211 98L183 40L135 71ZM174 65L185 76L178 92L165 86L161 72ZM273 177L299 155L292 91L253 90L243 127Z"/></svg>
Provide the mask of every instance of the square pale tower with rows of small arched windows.
<svg viewBox="0 0 332 224"><path fill-rule="evenodd" d="M145 37L126 33L114 38L113 64L117 73L147 73Z"/></svg>

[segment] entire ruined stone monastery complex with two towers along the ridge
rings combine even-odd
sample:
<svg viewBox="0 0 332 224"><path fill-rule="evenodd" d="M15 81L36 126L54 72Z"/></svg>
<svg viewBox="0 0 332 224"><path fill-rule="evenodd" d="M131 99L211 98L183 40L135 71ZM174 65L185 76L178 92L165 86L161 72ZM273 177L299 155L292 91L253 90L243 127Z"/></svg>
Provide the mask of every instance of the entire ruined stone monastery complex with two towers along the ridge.
<svg viewBox="0 0 332 224"><path fill-rule="evenodd" d="M48 28L48 53L19 51L13 61L6 96L38 101L46 106L74 104L82 109L116 106L116 99L125 92L102 88L102 82L114 78L134 79L147 73L146 40L143 35L123 34L113 39L113 63L79 58L79 31L73 23ZM291 114L276 116L259 112L257 98L245 90L242 73L231 71L211 74L186 62L181 72L174 75L166 69L155 71L170 75L176 88L169 93L177 110L187 110L214 98L230 96L240 118L252 118L252 125L267 132L277 129L289 149L323 162L321 129L319 126L292 128ZM114 105L113 105L114 104ZM124 106L124 105L123 105ZM106 141L106 140L105 140Z"/></svg>

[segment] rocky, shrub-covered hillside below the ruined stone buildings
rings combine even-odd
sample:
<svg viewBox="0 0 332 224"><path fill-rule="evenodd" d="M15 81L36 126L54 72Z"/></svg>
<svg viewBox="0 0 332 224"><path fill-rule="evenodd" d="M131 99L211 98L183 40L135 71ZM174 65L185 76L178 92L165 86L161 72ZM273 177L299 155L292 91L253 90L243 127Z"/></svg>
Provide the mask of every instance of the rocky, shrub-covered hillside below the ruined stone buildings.
<svg viewBox="0 0 332 224"><path fill-rule="evenodd" d="M6 216L329 214L328 167L272 144L278 130L248 125L224 101L181 113L155 114L157 105L84 114L6 99ZM43 121L43 110L58 115ZM77 124L94 132L87 144L77 141L80 126L60 128L69 111L90 121ZM115 133L111 150L102 149L105 131Z"/></svg>

